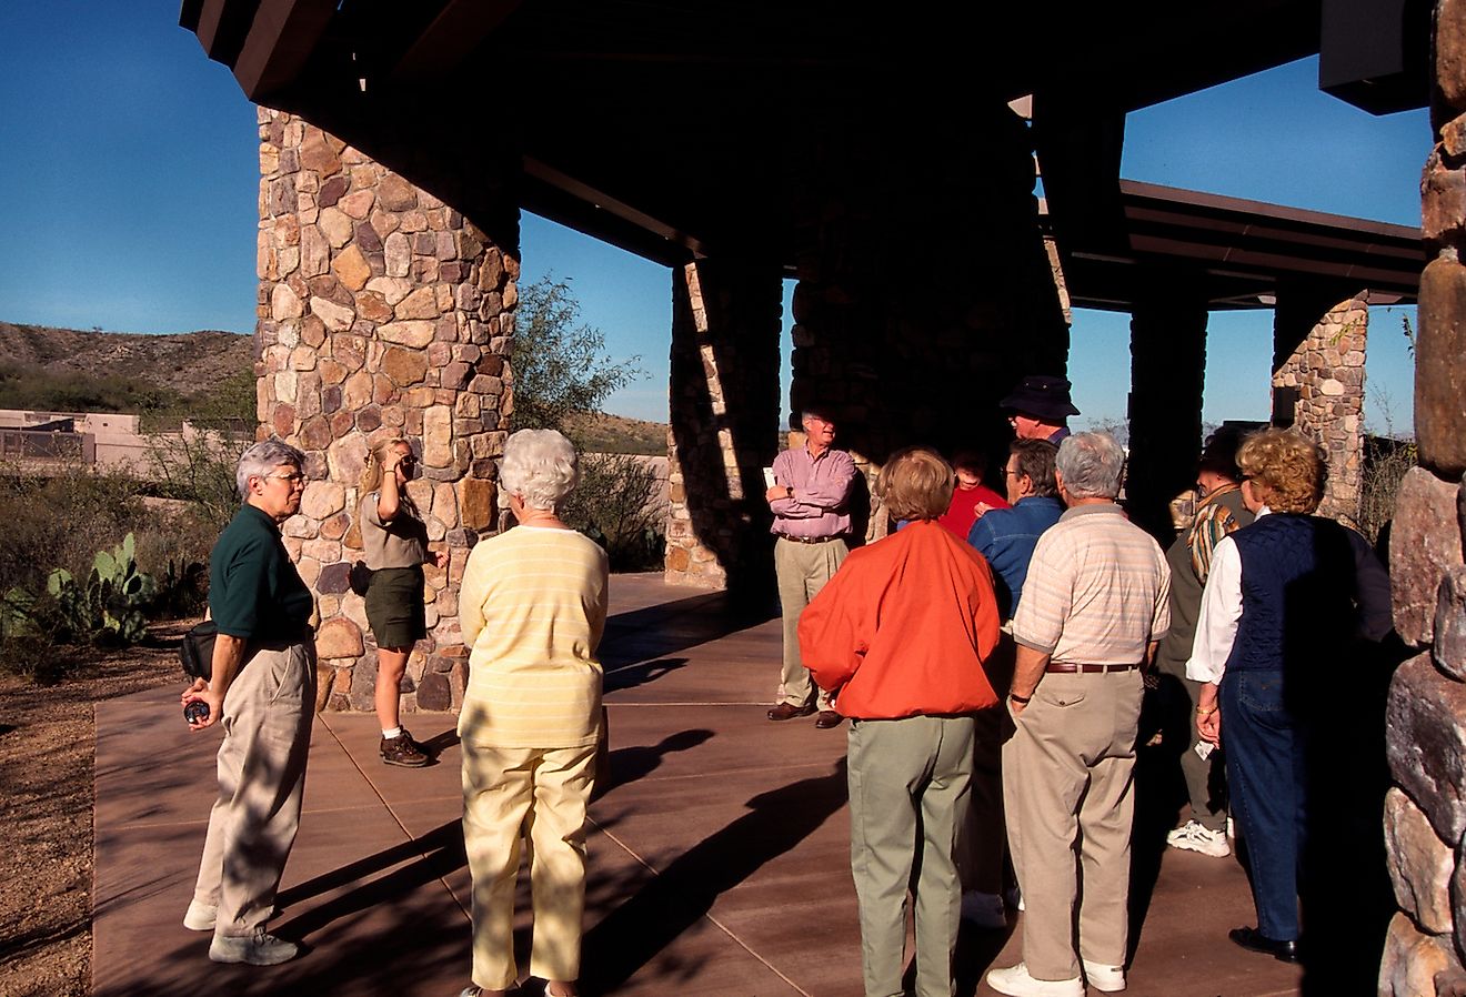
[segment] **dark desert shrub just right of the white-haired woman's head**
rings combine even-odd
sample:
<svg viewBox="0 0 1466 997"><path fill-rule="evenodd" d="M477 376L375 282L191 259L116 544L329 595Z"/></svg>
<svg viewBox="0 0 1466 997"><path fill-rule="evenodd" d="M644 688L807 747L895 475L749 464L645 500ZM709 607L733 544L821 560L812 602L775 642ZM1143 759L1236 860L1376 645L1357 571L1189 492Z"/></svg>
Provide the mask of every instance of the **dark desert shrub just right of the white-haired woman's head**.
<svg viewBox="0 0 1466 997"><path fill-rule="evenodd" d="M572 529L605 548L613 572L660 567L667 506L652 465L625 453L581 456L581 484L560 507Z"/></svg>

